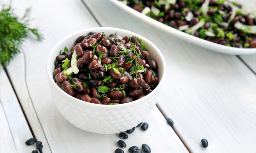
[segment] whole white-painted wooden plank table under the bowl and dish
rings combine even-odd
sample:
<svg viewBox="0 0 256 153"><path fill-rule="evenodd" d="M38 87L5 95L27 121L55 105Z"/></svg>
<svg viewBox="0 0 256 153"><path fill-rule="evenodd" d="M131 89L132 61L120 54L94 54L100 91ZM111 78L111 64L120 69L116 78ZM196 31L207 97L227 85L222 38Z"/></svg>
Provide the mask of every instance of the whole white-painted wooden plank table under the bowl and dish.
<svg viewBox="0 0 256 153"><path fill-rule="evenodd" d="M99 26L133 31L152 41L168 66L168 82L152 113L147 131L136 128L124 140L131 146L148 144L153 153L255 153L256 56L210 52L169 36L112 5L107 0L13 0L16 14L32 6L31 26L38 26L42 42L32 37L6 67L0 67L0 153L29 153L35 137L43 153L112 153L118 134L83 131L62 117L52 101L46 60L64 36ZM113 17L116 20L113 20ZM174 126L166 123L172 118ZM201 139L209 142L207 148Z"/></svg>

